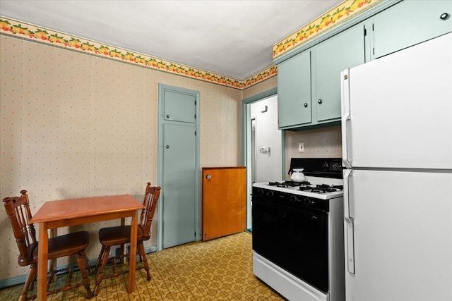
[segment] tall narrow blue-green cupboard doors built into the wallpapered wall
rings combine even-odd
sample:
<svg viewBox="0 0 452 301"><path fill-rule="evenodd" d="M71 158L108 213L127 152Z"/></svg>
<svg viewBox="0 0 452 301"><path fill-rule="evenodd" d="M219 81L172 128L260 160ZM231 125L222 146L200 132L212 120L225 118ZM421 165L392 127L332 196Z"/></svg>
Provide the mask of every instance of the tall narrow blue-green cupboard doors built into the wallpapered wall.
<svg viewBox="0 0 452 301"><path fill-rule="evenodd" d="M198 91L159 84L159 250L201 238L199 102Z"/></svg>

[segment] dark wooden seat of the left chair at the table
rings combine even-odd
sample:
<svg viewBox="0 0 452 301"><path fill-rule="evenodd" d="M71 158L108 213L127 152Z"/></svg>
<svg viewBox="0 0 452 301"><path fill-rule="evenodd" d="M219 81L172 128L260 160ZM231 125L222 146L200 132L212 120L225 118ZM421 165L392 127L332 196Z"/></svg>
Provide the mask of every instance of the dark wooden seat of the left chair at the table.
<svg viewBox="0 0 452 301"><path fill-rule="evenodd" d="M88 247L89 243L90 234L87 231L78 231L66 235L60 235L56 238L49 238L48 258L57 259L82 252L86 249L86 247ZM30 245L33 260L31 262L26 262L25 260L21 262L21 258L19 257L19 265L26 266L37 262L37 249L37 243Z"/></svg>

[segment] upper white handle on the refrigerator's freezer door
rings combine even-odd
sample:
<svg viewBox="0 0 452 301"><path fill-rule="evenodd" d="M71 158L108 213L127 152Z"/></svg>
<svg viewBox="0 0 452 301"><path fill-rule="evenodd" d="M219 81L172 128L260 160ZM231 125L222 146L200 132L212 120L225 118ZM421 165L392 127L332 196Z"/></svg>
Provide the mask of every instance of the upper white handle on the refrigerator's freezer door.
<svg viewBox="0 0 452 301"><path fill-rule="evenodd" d="M342 145L343 145L343 165L347 168L352 167L352 162L348 156L348 127L347 124L350 122L350 74L349 69L343 70L340 73L340 97L342 99Z"/></svg>

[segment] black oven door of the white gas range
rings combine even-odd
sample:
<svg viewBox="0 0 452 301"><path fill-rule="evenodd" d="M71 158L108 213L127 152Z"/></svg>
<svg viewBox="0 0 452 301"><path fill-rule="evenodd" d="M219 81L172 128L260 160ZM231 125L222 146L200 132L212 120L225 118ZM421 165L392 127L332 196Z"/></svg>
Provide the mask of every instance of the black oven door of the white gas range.
<svg viewBox="0 0 452 301"><path fill-rule="evenodd" d="M253 250L328 292L328 213L253 194Z"/></svg>

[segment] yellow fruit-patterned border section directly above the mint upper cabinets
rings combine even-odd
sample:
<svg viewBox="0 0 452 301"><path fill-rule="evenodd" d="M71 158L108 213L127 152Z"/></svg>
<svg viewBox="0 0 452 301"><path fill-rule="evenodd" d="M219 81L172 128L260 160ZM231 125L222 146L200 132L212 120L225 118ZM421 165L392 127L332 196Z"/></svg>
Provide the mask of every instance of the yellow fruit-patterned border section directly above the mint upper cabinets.
<svg viewBox="0 0 452 301"><path fill-rule="evenodd" d="M384 0L346 0L335 8L328 11L320 18L312 21L308 25L290 35L289 37L273 44L273 59L291 51L295 47L309 41L327 30L343 23L344 20L356 16L357 13L363 13L372 6L380 4Z"/></svg>

